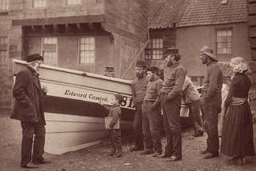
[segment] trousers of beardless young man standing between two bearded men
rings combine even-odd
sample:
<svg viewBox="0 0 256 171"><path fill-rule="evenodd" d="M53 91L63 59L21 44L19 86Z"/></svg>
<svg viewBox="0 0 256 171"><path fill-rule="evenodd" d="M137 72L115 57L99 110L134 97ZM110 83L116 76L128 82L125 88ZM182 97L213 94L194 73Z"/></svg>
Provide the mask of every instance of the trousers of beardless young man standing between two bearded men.
<svg viewBox="0 0 256 171"><path fill-rule="evenodd" d="M142 104L142 132L146 149L153 149L162 153L160 136L161 105L152 108L153 101L144 101Z"/></svg>

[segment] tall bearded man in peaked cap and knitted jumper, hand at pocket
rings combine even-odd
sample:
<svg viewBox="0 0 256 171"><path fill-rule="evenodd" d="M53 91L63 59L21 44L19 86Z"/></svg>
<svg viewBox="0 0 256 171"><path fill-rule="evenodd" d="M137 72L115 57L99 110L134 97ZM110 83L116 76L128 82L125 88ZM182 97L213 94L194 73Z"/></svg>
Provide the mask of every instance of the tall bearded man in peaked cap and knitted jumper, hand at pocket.
<svg viewBox="0 0 256 171"><path fill-rule="evenodd" d="M162 158L170 161L182 160L182 129L180 122L181 92L186 71L180 65L181 56L177 48L166 50L166 72L162 84L160 101L166 130L167 144Z"/></svg>

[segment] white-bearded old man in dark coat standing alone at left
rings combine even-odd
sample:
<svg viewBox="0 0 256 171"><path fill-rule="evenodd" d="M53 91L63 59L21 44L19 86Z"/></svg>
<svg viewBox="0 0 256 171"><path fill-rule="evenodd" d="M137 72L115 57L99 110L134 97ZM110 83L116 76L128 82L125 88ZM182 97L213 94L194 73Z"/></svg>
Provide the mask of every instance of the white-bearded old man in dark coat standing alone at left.
<svg viewBox="0 0 256 171"><path fill-rule="evenodd" d="M42 157L46 134L42 94L47 91L41 88L38 78L38 68L42 61L39 54L28 56L27 67L18 72L14 83L14 108L10 118L21 121L22 125L22 168L38 168L38 164L50 162Z"/></svg>

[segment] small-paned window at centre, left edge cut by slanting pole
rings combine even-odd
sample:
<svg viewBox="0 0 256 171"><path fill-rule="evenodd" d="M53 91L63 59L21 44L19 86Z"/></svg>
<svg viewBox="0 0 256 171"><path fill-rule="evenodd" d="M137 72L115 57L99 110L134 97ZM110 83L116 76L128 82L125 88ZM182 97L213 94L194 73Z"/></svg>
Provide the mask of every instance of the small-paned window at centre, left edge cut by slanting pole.
<svg viewBox="0 0 256 171"><path fill-rule="evenodd" d="M146 46L145 59L146 60L158 60L162 59L163 39L152 38Z"/></svg>

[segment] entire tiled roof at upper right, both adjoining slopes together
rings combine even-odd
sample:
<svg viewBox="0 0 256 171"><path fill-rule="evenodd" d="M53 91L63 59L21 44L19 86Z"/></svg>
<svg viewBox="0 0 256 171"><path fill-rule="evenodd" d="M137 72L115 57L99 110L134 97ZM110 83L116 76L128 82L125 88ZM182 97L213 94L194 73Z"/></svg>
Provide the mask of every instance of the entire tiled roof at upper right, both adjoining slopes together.
<svg viewBox="0 0 256 171"><path fill-rule="evenodd" d="M149 0L149 28L247 22L246 0Z"/></svg>

